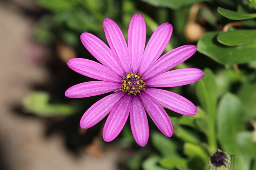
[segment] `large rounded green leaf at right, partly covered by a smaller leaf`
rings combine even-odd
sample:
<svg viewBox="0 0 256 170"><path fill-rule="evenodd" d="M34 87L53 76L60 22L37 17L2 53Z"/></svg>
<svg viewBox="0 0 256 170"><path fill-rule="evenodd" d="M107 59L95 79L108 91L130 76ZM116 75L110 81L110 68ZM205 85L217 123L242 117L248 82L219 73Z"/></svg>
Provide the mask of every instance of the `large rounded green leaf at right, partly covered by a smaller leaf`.
<svg viewBox="0 0 256 170"><path fill-rule="evenodd" d="M226 46L217 41L220 32L205 33L197 43L197 50L214 61L232 66L256 60L256 42L241 46Z"/></svg>

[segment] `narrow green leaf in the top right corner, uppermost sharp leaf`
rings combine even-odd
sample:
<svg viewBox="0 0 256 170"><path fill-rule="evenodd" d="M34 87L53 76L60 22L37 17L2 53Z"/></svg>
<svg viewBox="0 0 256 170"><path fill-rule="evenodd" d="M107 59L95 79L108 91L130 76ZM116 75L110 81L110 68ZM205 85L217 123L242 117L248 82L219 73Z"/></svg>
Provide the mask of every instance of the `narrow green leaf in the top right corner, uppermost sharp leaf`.
<svg viewBox="0 0 256 170"><path fill-rule="evenodd" d="M256 14L243 14L240 12L227 10L221 7L218 8L218 12L224 17L231 20L246 20L246 19L256 18Z"/></svg>

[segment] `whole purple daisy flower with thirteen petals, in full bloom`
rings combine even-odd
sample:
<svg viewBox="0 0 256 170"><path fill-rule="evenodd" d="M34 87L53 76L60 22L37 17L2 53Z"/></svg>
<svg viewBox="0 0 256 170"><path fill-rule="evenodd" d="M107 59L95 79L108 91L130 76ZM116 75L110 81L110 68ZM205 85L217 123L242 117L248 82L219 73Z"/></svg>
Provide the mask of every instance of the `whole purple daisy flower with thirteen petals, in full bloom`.
<svg viewBox="0 0 256 170"><path fill-rule="evenodd" d="M128 44L114 21L106 18L103 27L110 48L90 33L81 35L84 47L102 64L81 58L68 61L72 70L100 81L72 86L65 92L67 97L114 92L93 104L82 116L80 126L90 128L110 113L103 129L103 139L109 142L118 136L130 115L134 139L145 146L149 137L147 112L158 129L171 137L172 123L162 106L184 115L196 114L196 106L178 94L154 87L182 86L202 78L204 72L197 68L168 71L191 57L196 47L184 45L160 57L172 35L172 25L160 25L145 48L146 24L140 14L130 21Z"/></svg>

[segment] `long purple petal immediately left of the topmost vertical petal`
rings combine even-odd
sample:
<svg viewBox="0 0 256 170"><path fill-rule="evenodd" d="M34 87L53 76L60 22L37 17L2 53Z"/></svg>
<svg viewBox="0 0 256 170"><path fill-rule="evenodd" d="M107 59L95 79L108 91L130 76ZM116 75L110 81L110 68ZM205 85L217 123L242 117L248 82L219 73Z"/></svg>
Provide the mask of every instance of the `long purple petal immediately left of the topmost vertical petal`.
<svg viewBox="0 0 256 170"><path fill-rule="evenodd" d="M131 67L128 58L128 47L122 31L118 25L109 18L103 20L103 28L105 31L106 39L108 41L108 45L116 57L116 60L123 68L125 73L130 72Z"/></svg>

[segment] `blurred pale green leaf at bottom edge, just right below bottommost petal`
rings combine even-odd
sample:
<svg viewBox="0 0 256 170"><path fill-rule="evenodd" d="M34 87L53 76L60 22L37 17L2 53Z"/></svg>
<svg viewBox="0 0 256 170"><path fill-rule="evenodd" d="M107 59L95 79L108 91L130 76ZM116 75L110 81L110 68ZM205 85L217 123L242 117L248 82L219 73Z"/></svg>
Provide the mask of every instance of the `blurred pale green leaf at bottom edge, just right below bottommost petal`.
<svg viewBox="0 0 256 170"><path fill-rule="evenodd" d="M166 168L158 166L159 160L159 156L151 156L144 160L144 162L142 163L142 168L144 170L166 170Z"/></svg>

